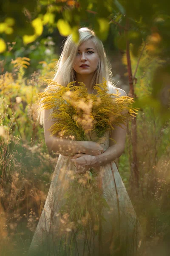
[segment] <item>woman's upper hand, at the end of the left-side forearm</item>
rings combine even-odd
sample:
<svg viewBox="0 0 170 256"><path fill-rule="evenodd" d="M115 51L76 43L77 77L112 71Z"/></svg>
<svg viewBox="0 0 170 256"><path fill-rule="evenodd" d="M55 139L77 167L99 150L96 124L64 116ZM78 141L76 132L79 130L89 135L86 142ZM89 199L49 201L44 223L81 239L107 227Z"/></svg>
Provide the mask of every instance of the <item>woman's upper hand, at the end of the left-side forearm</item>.
<svg viewBox="0 0 170 256"><path fill-rule="evenodd" d="M99 143L94 141L81 141L83 153L96 156L103 153L103 148Z"/></svg>

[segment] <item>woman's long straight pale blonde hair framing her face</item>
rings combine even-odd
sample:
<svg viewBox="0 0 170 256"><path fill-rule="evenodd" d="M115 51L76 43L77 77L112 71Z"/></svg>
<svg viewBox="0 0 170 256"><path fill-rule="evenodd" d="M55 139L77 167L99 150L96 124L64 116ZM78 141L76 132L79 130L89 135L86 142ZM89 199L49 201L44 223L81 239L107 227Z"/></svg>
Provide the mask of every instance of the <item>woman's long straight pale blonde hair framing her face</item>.
<svg viewBox="0 0 170 256"><path fill-rule="evenodd" d="M56 73L54 76L54 81L63 86L67 86L71 81L76 81L74 67L74 61L77 54L78 47L84 43L85 41L91 39L96 47L96 51L99 55L99 64L97 69L94 72L93 79L91 81L91 87L94 84L102 83L103 78L106 79L109 85L112 85L112 73L111 66L109 64L108 58L106 56L106 52L102 41L96 37L95 32L86 27L79 29L79 42L75 44L72 35L69 35L65 41L64 47L62 49L62 53L59 57L59 60L56 64ZM48 87L45 89L48 90ZM40 108L42 105L40 105ZM38 111L38 119L40 124L44 124L44 110Z"/></svg>

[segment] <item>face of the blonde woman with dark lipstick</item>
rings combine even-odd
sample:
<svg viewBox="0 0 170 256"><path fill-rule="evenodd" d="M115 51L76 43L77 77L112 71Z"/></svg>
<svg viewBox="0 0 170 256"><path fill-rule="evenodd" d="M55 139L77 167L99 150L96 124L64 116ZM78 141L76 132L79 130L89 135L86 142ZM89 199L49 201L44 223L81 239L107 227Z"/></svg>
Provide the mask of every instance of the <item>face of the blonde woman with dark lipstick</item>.
<svg viewBox="0 0 170 256"><path fill-rule="evenodd" d="M75 58L74 70L80 75L89 75L94 73L99 63L99 55L96 47L89 39L78 47L77 56Z"/></svg>

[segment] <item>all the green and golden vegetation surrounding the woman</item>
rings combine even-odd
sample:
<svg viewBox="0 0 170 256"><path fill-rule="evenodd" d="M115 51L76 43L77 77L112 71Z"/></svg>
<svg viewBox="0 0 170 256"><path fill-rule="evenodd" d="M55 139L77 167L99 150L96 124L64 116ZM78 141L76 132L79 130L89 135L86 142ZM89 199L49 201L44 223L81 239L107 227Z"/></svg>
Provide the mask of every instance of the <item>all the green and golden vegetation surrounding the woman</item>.
<svg viewBox="0 0 170 256"><path fill-rule="evenodd" d="M169 255L169 2L2 0L0 10L0 255L26 254L40 217L57 155L45 146L34 96L79 26L95 29L113 67L115 56L126 67L123 88L140 111L116 162L144 232L142 255Z"/></svg>

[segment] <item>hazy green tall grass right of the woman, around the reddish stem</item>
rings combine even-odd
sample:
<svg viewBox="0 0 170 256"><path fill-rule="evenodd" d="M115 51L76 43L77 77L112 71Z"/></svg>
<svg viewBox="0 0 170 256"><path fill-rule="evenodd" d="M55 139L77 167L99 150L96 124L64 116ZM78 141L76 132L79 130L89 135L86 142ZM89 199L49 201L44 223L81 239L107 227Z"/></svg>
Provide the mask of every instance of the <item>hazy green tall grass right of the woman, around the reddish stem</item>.
<svg viewBox="0 0 170 256"><path fill-rule="evenodd" d="M137 60L133 56L131 60L134 70ZM123 62L126 64L125 58ZM160 59L149 55L147 50L144 51L136 74L138 80L135 93L139 99L152 95L153 71L161 67L162 63ZM170 255L167 242L170 238L170 120L162 121L159 107L147 103L137 116L139 191L135 191L133 183L129 182L133 164L133 131L130 123L125 152L119 158L119 171L142 225L145 242L143 255L166 256Z"/></svg>

